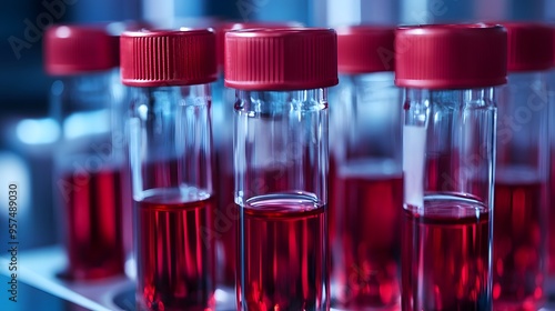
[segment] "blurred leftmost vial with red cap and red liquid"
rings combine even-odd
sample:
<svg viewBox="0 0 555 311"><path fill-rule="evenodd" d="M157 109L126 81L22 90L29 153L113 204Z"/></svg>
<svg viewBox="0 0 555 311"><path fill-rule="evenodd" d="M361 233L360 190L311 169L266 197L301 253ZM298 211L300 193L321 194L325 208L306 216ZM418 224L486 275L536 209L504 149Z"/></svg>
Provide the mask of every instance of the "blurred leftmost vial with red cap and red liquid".
<svg viewBox="0 0 555 311"><path fill-rule="evenodd" d="M62 138L54 154L70 280L123 273L123 134L117 130L113 74L118 42L101 26L57 26L44 33L44 66L57 77L50 110Z"/></svg>

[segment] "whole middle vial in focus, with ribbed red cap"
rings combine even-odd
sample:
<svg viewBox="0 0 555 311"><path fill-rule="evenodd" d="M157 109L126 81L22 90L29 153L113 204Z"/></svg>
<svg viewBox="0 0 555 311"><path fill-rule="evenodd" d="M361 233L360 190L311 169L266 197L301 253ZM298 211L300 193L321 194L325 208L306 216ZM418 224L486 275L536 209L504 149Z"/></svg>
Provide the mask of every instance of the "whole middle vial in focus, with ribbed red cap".
<svg viewBox="0 0 555 311"><path fill-rule="evenodd" d="M329 310L327 90L331 29L230 31L235 89L238 310Z"/></svg>

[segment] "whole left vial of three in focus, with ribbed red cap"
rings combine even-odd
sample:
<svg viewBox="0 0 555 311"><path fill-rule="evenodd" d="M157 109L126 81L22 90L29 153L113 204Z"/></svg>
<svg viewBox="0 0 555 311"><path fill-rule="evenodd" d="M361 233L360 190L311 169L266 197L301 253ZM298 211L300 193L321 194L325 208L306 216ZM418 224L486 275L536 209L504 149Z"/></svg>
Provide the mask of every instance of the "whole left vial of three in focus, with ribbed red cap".
<svg viewBox="0 0 555 311"><path fill-rule="evenodd" d="M141 310L214 310L210 30L124 32Z"/></svg>

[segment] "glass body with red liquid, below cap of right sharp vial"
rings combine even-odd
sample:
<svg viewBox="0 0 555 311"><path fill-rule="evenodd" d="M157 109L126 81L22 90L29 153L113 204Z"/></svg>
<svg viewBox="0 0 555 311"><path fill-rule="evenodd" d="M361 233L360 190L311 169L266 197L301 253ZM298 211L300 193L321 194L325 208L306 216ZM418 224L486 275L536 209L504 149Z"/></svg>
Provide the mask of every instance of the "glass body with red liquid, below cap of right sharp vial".
<svg viewBox="0 0 555 311"><path fill-rule="evenodd" d="M494 96L405 90L404 310L491 308Z"/></svg>

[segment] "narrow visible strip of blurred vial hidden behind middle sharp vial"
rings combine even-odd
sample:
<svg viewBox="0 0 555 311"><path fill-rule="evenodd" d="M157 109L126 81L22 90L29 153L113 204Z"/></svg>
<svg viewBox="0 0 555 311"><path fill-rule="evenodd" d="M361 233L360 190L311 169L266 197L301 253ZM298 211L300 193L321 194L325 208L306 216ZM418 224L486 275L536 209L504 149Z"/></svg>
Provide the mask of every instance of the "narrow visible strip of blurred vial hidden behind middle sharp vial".
<svg viewBox="0 0 555 311"><path fill-rule="evenodd" d="M252 28L301 27L296 22L221 22L216 27L219 74L212 84L212 133L214 138L214 187L218 193L218 275L219 285L233 291L236 269L236 239L239 214L233 198L233 90L223 86L224 41L231 30Z"/></svg>

